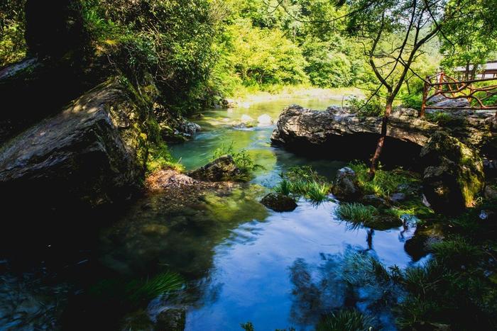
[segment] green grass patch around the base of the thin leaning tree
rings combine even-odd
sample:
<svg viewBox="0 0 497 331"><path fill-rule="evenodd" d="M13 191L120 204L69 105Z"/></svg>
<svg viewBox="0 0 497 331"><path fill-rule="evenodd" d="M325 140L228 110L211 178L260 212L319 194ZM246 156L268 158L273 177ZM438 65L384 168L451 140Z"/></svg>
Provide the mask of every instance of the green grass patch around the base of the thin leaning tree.
<svg viewBox="0 0 497 331"><path fill-rule="evenodd" d="M349 167L356 172L357 181L365 194L375 194L382 198L388 198L392 193L398 191L398 186L402 184L419 184L420 179L413 173L403 169L385 171L378 169L371 179L369 167L362 162L353 162Z"/></svg>

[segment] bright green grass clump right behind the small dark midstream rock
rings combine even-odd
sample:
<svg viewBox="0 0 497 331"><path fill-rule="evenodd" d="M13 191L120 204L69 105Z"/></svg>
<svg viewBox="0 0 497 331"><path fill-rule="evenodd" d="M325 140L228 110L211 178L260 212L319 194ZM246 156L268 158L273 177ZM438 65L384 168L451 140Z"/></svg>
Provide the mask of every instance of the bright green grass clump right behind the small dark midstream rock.
<svg viewBox="0 0 497 331"><path fill-rule="evenodd" d="M285 196L303 196L312 203L322 203L331 191L331 184L311 167L293 167L280 176L282 181L273 189Z"/></svg>

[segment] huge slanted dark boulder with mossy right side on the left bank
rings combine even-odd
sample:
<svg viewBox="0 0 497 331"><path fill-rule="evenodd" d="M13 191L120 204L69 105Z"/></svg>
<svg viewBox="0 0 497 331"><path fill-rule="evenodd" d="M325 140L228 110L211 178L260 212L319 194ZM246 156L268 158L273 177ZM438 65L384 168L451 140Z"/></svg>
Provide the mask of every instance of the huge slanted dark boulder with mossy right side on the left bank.
<svg viewBox="0 0 497 331"><path fill-rule="evenodd" d="M0 149L4 208L94 207L138 188L147 109L131 89L111 79L6 142Z"/></svg>

